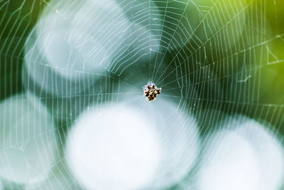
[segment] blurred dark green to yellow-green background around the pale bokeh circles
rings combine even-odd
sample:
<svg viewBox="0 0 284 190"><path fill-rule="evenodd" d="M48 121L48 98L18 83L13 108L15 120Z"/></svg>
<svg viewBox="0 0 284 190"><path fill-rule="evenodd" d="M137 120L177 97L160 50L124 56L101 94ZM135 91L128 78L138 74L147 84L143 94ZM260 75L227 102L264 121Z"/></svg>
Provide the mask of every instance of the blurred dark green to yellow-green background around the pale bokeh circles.
<svg viewBox="0 0 284 190"><path fill-rule="evenodd" d="M134 11L127 12L133 5L125 2L126 6L121 4L126 16L138 22ZM146 22L155 31L151 19L160 16L161 54L133 56L126 62L129 65L110 67L83 92L56 97L33 82L27 88L23 81L32 81L23 71L25 43L50 1L0 0L0 101L31 91L55 117L63 144L72 122L93 102L119 100L123 86L134 86L134 93L143 95L143 85L153 80L163 88L160 97L195 116L201 137L214 131L227 115L244 115L265 123L283 143L284 1L153 2L156 6L149 5Z"/></svg>

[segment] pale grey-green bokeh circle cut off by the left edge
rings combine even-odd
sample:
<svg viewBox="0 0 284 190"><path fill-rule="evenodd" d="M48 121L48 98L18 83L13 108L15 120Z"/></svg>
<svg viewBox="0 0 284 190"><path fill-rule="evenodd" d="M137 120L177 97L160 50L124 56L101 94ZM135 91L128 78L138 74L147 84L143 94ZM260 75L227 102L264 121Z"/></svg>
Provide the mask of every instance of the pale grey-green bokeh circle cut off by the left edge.
<svg viewBox="0 0 284 190"><path fill-rule="evenodd" d="M55 162L57 149L50 113L28 94L2 102L0 113L0 176L18 184L43 181Z"/></svg>

